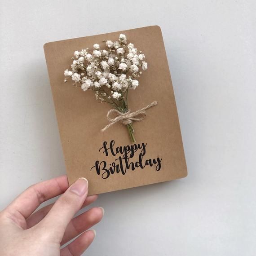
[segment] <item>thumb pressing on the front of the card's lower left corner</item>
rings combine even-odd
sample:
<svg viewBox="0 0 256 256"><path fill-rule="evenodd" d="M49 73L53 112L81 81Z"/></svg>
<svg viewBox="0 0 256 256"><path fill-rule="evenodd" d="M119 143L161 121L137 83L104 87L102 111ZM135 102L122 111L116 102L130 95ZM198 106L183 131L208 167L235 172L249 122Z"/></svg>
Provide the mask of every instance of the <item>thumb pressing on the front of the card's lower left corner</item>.
<svg viewBox="0 0 256 256"><path fill-rule="evenodd" d="M44 217L38 226L43 227L54 238L61 241L68 223L84 203L88 194L88 181L79 178L71 185L62 196L57 199L49 213Z"/></svg>

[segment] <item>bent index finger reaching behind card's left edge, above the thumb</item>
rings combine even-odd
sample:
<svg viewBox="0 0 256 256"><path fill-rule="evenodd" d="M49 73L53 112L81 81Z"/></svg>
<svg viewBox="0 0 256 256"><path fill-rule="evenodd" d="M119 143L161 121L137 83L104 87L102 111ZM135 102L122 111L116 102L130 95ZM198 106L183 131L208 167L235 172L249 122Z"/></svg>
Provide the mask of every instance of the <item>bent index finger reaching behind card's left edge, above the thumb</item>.
<svg viewBox="0 0 256 256"><path fill-rule="evenodd" d="M68 180L66 175L31 185L14 199L5 210L10 213L19 212L26 219L41 203L63 194L67 188Z"/></svg>

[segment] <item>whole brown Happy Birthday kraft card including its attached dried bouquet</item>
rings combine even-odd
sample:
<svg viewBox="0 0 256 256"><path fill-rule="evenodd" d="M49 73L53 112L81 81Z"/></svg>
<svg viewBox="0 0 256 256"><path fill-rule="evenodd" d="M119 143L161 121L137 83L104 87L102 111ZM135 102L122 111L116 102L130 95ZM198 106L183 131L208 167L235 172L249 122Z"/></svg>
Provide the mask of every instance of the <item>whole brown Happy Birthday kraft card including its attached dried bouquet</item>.
<svg viewBox="0 0 256 256"><path fill-rule="evenodd" d="M159 26L44 44L69 183L89 194L187 175Z"/></svg>

